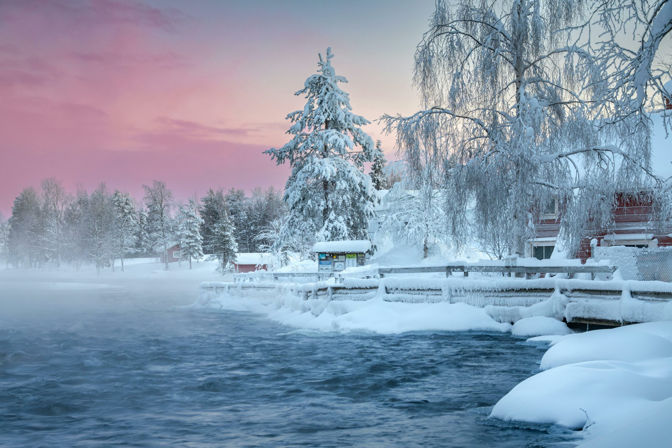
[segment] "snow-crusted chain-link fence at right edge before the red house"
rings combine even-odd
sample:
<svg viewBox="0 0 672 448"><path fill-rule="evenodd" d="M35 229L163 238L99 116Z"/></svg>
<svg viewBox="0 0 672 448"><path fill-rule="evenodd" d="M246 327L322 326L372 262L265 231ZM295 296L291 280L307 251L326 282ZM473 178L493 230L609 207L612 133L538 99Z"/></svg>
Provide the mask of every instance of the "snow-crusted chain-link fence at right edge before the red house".
<svg viewBox="0 0 672 448"><path fill-rule="evenodd" d="M624 280L672 281L672 247L595 247L593 257L617 265Z"/></svg>

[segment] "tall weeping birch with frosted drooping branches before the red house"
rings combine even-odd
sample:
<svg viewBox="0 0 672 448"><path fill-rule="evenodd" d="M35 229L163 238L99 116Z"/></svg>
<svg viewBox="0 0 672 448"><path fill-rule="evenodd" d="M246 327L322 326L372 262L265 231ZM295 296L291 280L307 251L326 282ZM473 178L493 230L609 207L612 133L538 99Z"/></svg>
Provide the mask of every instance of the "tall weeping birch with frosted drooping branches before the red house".
<svg viewBox="0 0 672 448"><path fill-rule="evenodd" d="M523 255L532 222L553 198L605 228L612 212L604 204L614 202L619 173L631 186L640 182L632 167L645 150L626 154L603 144L586 101L599 71L587 44L571 41L567 29L584 11L575 0L437 1L415 54L425 109L383 120L411 167L436 140L430 147L443 162L444 210L456 243L470 240L472 208L477 233L509 232L507 253ZM490 210L506 210L506 225L493 228ZM562 221L566 248L576 249L585 225Z"/></svg>

